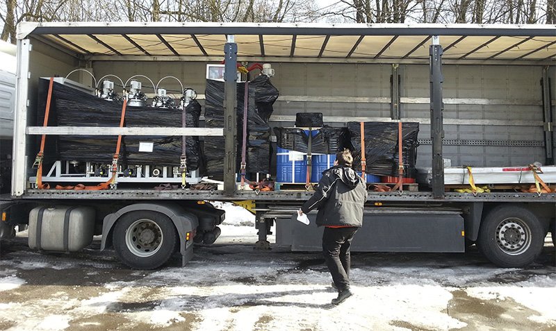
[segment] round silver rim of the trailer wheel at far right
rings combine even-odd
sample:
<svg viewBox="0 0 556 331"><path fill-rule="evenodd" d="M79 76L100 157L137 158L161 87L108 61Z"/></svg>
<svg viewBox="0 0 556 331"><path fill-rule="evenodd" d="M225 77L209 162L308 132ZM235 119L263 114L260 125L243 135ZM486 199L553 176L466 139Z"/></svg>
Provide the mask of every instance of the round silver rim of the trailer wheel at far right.
<svg viewBox="0 0 556 331"><path fill-rule="evenodd" d="M531 229L522 219L507 218L496 228L496 243L508 255L520 255L531 246Z"/></svg>

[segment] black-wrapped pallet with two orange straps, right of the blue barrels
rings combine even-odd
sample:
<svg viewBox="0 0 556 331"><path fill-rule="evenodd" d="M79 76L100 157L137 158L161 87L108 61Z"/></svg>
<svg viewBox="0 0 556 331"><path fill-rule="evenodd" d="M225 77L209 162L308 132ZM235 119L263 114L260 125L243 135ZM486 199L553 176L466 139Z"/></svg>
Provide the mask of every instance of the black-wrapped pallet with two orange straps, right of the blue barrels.
<svg viewBox="0 0 556 331"><path fill-rule="evenodd" d="M354 158L354 169L361 170L361 123L347 124L350 135L350 148ZM419 124L402 124L402 162L404 176L415 176L417 158L417 136ZM377 176L398 176L398 123L365 122L366 173Z"/></svg>

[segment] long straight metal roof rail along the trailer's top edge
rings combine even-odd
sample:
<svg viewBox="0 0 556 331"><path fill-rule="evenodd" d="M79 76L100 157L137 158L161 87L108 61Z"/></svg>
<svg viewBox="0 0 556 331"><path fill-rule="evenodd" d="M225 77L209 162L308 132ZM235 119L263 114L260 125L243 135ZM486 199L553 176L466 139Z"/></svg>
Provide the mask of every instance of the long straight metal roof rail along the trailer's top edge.
<svg viewBox="0 0 556 331"><path fill-rule="evenodd" d="M472 35L554 36L554 24L295 24L53 22L26 23L18 39L29 34L221 34L221 35Z"/></svg>

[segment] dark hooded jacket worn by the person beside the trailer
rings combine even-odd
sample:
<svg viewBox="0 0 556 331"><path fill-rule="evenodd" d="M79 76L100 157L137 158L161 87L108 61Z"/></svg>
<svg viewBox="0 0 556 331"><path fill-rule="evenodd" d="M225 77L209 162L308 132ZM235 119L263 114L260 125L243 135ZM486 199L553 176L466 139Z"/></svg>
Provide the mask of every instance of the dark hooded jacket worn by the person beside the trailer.
<svg viewBox="0 0 556 331"><path fill-rule="evenodd" d="M318 226L356 226L363 223L367 188L351 168L334 166L322 173L318 188L301 207L304 214L318 208Z"/></svg>

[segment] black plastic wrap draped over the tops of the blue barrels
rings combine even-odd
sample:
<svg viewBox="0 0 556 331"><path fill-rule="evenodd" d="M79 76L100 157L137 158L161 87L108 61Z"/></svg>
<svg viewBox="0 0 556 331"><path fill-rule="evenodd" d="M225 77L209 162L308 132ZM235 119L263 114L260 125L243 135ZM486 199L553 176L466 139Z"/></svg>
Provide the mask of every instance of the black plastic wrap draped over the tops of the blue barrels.
<svg viewBox="0 0 556 331"><path fill-rule="evenodd" d="M307 153L309 135L300 128L274 128L277 137L277 145L290 151ZM311 153L336 154L341 151L348 142L347 128L333 128L323 126L313 130L311 137Z"/></svg>

